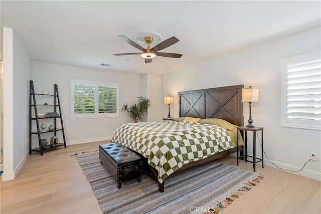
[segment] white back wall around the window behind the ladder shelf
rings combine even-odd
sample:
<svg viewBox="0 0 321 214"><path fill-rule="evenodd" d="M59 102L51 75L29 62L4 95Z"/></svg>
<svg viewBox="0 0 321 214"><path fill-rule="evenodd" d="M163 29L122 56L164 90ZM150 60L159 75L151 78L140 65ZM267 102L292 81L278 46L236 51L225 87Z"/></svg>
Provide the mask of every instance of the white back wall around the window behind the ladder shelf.
<svg viewBox="0 0 321 214"><path fill-rule="evenodd" d="M122 112L119 117L71 119L71 79L119 83L120 109L125 102L134 103L136 97L141 96L141 76L138 74L32 61L31 76L36 93L46 90L48 94L53 94L54 84L58 85L67 144L108 140L119 125L131 122ZM46 124L50 125L50 119L46 120L49 120ZM48 142L50 137L48 134ZM57 132L57 137L62 142L61 133ZM32 141L33 147L36 147L36 137Z"/></svg>

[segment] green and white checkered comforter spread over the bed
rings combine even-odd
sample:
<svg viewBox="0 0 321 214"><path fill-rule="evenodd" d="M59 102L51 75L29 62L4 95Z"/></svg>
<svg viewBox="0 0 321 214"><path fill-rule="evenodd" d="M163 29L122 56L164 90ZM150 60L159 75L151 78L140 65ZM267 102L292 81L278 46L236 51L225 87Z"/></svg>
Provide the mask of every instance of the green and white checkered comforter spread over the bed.
<svg viewBox="0 0 321 214"><path fill-rule="evenodd" d="M193 122L127 123L117 128L111 141L148 158L161 183L186 163L233 148L224 128Z"/></svg>

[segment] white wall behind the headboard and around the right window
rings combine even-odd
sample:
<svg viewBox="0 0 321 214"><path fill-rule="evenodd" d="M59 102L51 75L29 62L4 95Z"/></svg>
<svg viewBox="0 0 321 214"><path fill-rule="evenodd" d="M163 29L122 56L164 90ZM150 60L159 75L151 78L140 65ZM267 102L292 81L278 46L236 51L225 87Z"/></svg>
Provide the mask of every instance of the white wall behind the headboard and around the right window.
<svg viewBox="0 0 321 214"><path fill-rule="evenodd" d="M178 100L178 92L186 90L239 84L258 88L260 101L252 104L252 119L255 126L264 127L264 150L269 159L282 168L297 170L309 159L310 152L316 152L316 161L310 161L298 174L321 180L321 132L281 127L280 116L281 59L320 51L320 38L320 27L313 28L165 74L163 95L174 94ZM172 116L178 117L177 102L171 107ZM167 111L164 107L162 114ZM245 103L244 123L248 116L249 105ZM265 164L273 167L268 161Z"/></svg>

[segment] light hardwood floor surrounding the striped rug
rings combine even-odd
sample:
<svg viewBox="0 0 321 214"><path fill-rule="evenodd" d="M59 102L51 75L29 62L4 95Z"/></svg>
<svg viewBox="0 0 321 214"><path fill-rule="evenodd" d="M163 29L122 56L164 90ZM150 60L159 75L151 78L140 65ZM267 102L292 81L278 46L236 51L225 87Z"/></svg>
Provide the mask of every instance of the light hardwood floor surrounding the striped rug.
<svg viewBox="0 0 321 214"><path fill-rule="evenodd" d="M102 213L76 160L102 142L70 145L30 155L17 178L1 182L1 213ZM252 164L227 156L218 161L252 171ZM222 213L321 213L321 182L256 165L265 178ZM166 188L166 183L165 183Z"/></svg>

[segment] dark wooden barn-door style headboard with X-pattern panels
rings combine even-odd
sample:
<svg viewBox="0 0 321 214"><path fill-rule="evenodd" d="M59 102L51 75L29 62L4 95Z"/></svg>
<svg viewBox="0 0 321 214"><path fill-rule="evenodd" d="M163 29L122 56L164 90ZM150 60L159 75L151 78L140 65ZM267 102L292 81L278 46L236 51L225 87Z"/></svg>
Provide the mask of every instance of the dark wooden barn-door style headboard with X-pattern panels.
<svg viewBox="0 0 321 214"><path fill-rule="evenodd" d="M244 85L179 92L180 117L220 118L241 126L242 88Z"/></svg>

